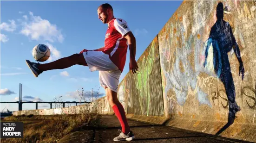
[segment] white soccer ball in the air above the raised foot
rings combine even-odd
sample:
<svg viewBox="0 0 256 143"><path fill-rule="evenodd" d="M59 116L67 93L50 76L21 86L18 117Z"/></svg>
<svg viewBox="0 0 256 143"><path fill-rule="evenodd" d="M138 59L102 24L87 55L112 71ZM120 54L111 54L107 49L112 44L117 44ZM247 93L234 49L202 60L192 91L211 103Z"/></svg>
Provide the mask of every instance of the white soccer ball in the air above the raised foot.
<svg viewBox="0 0 256 143"><path fill-rule="evenodd" d="M51 50L45 44L38 44L32 50L32 55L36 61L45 62L51 55Z"/></svg>

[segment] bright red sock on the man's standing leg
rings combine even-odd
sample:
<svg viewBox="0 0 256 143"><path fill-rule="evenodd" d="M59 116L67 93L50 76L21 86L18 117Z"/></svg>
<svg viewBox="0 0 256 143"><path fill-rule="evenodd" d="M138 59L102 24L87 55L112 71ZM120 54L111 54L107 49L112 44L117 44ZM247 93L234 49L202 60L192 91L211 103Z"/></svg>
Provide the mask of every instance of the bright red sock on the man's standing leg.
<svg viewBox="0 0 256 143"><path fill-rule="evenodd" d="M122 106L121 103L118 103L114 106L112 106L120 124L121 124L121 127L122 127L122 132L125 133L125 134L128 134L130 132L130 127L129 127L129 124L127 122L127 119L126 119L126 116L125 116L125 109L124 107Z"/></svg>

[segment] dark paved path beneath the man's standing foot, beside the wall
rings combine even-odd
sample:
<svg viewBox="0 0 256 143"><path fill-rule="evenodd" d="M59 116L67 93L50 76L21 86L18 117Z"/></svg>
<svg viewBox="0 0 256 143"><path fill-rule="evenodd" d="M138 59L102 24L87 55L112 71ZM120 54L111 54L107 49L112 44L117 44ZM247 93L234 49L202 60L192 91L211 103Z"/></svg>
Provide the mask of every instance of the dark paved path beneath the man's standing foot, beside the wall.
<svg viewBox="0 0 256 143"><path fill-rule="evenodd" d="M116 143L113 138L118 136L118 129L121 130L118 118L107 115L102 116L100 121L101 125L98 128L72 132L58 143ZM131 142L136 143L249 143L131 119L128 119L128 123L135 134L135 139ZM121 141L124 142L128 141Z"/></svg>

